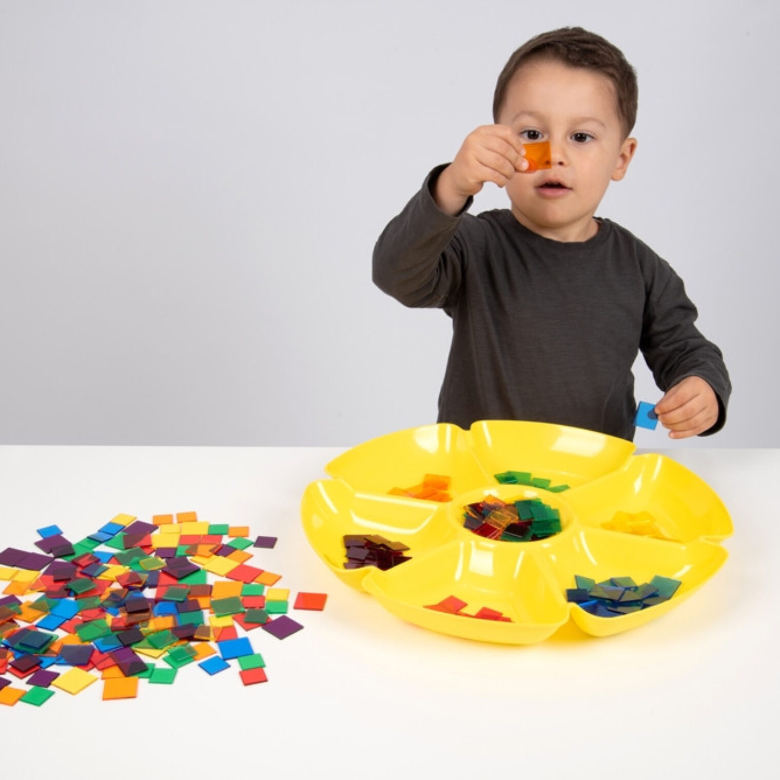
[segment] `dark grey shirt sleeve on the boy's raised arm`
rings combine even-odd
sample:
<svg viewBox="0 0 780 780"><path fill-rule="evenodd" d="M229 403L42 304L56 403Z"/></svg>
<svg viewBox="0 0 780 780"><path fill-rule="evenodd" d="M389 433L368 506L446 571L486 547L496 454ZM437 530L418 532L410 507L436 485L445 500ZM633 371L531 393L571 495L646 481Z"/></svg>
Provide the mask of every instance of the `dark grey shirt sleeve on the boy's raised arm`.
<svg viewBox="0 0 780 780"><path fill-rule="evenodd" d="M445 167L428 174L374 246L374 284L404 306L449 307L463 280L468 257L457 232L472 199L455 217L441 211L431 187Z"/></svg>

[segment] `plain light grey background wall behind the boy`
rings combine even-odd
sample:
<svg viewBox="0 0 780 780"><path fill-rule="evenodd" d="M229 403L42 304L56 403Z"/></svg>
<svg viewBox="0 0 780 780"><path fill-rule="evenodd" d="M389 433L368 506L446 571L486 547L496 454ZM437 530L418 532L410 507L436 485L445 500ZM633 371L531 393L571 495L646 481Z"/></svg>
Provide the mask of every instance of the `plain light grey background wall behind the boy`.
<svg viewBox="0 0 780 780"><path fill-rule="evenodd" d="M672 261L732 372L725 431L684 446L780 445L777 8L0 0L0 443L434 421L449 320L373 287L374 240L490 121L511 51L580 24L640 75L639 151L600 213Z"/></svg>

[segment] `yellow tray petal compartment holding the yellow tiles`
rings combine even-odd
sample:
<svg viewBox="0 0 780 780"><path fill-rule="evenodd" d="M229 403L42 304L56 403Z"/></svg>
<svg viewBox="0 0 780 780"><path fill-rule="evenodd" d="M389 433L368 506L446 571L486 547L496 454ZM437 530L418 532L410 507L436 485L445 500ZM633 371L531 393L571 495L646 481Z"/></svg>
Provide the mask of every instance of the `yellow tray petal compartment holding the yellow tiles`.
<svg viewBox="0 0 780 780"><path fill-rule="evenodd" d="M722 541L733 533L729 512L704 480L671 458L634 456L620 470L568 491L583 524L601 528L618 512L646 512L673 541Z"/></svg>

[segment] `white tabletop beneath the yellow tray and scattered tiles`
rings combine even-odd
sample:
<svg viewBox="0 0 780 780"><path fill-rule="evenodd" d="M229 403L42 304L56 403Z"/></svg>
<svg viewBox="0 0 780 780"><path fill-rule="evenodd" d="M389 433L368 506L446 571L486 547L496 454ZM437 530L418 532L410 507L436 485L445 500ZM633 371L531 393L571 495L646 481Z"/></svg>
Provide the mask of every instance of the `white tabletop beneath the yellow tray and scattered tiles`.
<svg viewBox="0 0 780 780"><path fill-rule="evenodd" d="M724 568L640 629L587 640L563 629L529 647L408 625L326 569L303 535L300 498L339 452L0 447L0 549L33 549L51 523L74 540L119 512L194 510L278 536L252 562L281 573L279 587L329 596L324 612L291 613L305 629L285 640L250 633L268 683L190 665L172 686L142 683L135 700L101 701L98 683L40 708L0 707L4 774L32 777L31 762L45 760L41 771L62 778L768 776L780 451L659 450L731 512Z"/></svg>

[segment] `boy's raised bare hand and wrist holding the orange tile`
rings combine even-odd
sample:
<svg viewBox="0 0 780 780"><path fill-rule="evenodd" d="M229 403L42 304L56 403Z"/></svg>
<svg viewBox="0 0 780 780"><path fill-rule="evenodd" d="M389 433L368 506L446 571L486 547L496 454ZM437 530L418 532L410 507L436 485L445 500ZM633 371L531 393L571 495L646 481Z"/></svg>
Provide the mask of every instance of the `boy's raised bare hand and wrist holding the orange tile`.
<svg viewBox="0 0 780 780"><path fill-rule="evenodd" d="M486 182L499 187L528 167L523 142L506 125L484 125L466 136L455 159L439 175L434 200L442 211L456 215L466 200Z"/></svg>

